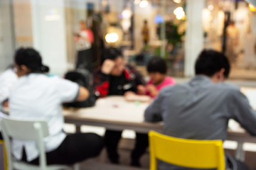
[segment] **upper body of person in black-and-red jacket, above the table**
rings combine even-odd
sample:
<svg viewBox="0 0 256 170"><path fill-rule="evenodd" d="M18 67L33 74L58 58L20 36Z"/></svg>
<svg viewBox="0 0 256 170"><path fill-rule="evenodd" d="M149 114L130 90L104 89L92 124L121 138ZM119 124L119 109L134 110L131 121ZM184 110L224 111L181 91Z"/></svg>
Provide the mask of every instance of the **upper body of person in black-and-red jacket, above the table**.
<svg viewBox="0 0 256 170"><path fill-rule="evenodd" d="M137 93L137 86L145 84L142 75L134 67L124 64L122 52L110 47L104 52L105 60L95 77L95 94L100 97Z"/></svg>

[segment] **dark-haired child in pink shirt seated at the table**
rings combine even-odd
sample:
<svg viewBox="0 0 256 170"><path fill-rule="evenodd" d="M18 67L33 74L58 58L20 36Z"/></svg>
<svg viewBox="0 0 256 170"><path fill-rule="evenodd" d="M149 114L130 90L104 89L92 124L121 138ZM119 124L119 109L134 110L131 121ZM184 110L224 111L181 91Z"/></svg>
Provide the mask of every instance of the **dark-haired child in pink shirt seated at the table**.
<svg viewBox="0 0 256 170"><path fill-rule="evenodd" d="M165 86L174 86L174 78L166 76L166 62L161 57L151 58L146 69L150 79L146 86L137 86L138 94L149 95L151 98L155 98Z"/></svg>

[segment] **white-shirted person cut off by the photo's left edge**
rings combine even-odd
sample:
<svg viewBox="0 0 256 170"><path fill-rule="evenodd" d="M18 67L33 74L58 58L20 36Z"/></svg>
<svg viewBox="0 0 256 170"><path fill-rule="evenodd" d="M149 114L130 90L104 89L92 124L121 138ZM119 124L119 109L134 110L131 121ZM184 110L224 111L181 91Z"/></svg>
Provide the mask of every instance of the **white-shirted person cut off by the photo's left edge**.
<svg viewBox="0 0 256 170"><path fill-rule="evenodd" d="M3 106L8 106L9 91L11 86L16 83L17 79L18 77L13 67L6 69L6 71L0 75L0 110Z"/></svg>

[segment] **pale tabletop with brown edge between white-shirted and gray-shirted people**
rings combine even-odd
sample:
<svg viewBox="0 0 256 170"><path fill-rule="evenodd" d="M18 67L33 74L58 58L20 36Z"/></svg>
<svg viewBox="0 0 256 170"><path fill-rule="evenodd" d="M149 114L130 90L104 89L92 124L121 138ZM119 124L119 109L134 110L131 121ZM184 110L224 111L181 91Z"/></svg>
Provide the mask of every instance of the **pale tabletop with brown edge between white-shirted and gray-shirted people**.
<svg viewBox="0 0 256 170"><path fill-rule="evenodd" d="M137 132L149 132L156 130L161 132L163 123L144 122L144 111L149 103L127 102L122 96L110 96L100 98L91 108L63 110L65 123L77 125L102 126L110 130L135 130Z"/></svg>

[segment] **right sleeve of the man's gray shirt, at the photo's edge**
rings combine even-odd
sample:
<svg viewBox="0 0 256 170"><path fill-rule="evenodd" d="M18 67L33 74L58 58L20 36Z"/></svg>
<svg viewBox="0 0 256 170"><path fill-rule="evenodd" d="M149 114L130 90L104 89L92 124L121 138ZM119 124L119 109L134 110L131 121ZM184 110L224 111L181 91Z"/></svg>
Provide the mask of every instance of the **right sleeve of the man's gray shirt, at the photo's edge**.
<svg viewBox="0 0 256 170"><path fill-rule="evenodd" d="M256 112L250 106L246 96L240 91L234 91L230 98L230 113L251 135L256 135Z"/></svg>

